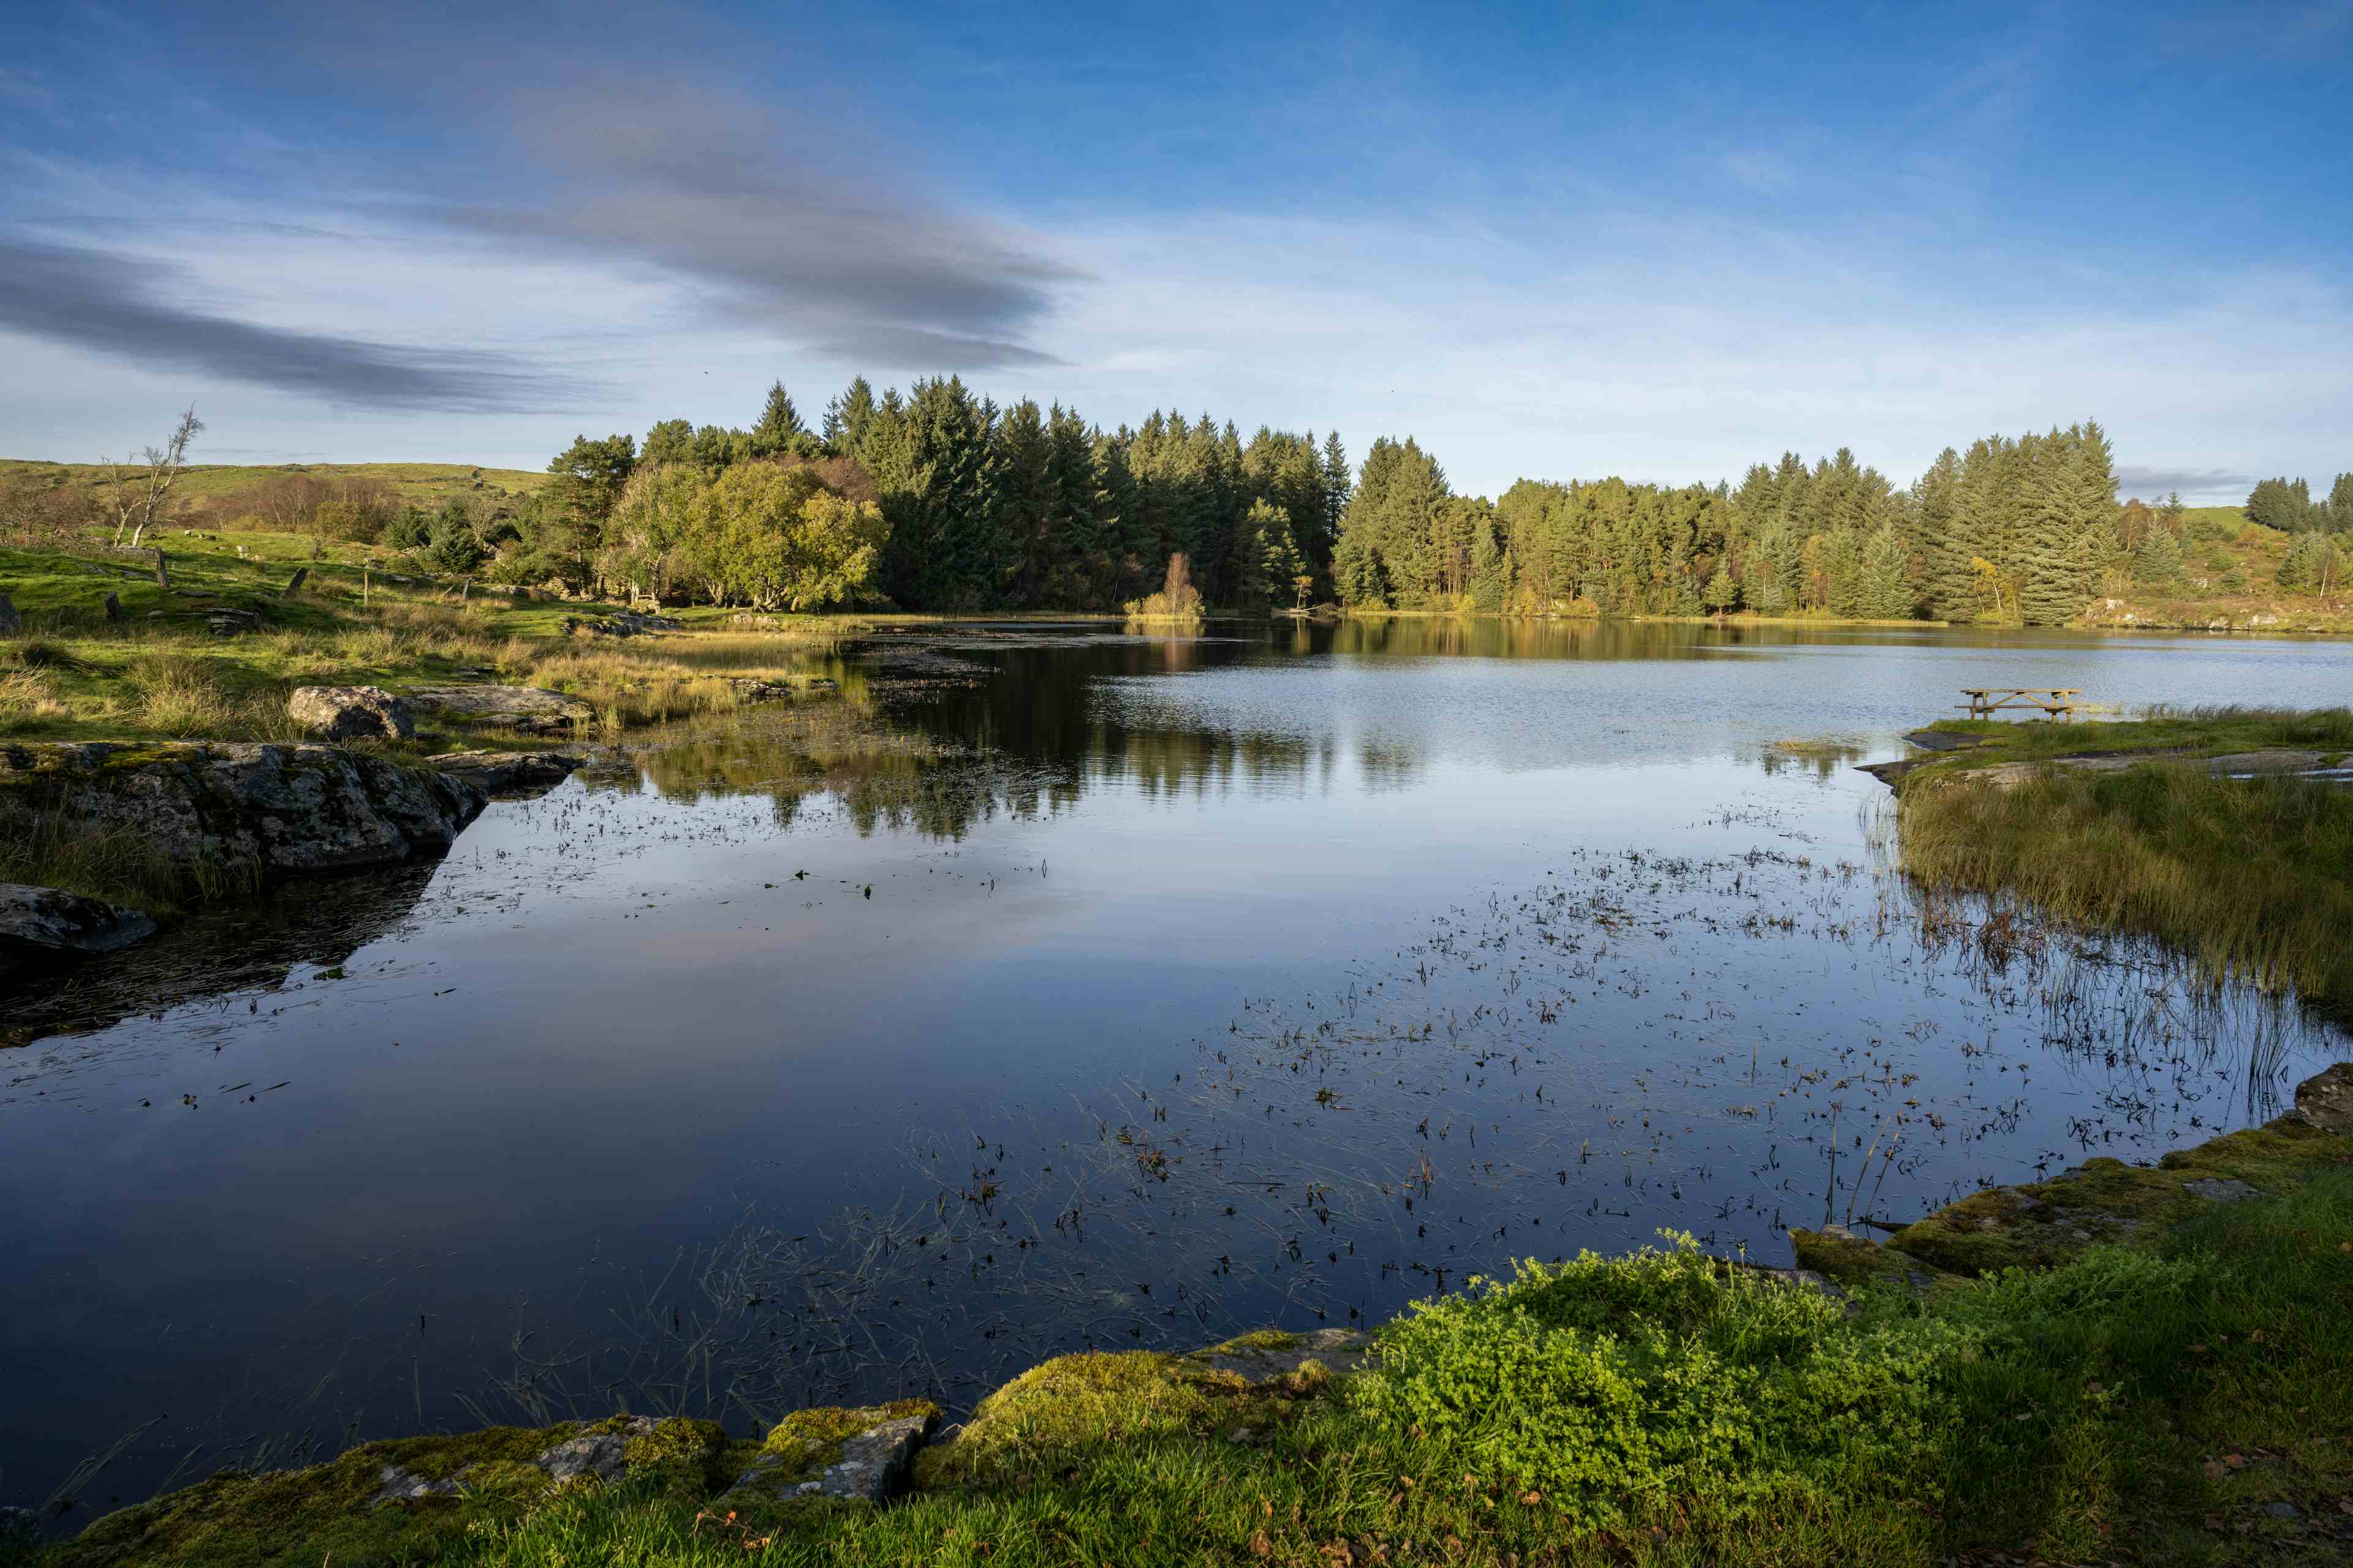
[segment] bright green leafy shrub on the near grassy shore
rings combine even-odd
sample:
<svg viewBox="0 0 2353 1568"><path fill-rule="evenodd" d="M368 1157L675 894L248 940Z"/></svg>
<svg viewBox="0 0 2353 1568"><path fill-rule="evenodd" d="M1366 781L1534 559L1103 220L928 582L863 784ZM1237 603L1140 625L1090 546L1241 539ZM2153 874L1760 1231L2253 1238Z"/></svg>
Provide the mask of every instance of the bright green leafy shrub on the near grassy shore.
<svg viewBox="0 0 2353 1568"><path fill-rule="evenodd" d="M1586 1528L1934 1490L1941 1385L1974 1359L1979 1331L1857 1321L1668 1239L1631 1258L1525 1262L1508 1284L1417 1302L1381 1335L1355 1410L1541 1490Z"/></svg>

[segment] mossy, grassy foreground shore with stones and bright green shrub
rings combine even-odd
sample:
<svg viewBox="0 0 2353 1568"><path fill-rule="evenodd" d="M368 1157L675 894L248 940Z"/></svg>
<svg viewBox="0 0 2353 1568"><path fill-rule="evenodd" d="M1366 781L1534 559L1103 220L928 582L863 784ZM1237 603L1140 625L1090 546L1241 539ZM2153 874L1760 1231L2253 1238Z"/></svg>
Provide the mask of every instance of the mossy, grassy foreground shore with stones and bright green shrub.
<svg viewBox="0 0 2353 1568"><path fill-rule="evenodd" d="M1059 1356L920 1448L920 1399L765 1436L628 1415L409 1436L224 1472L71 1540L19 1519L0 1561L2332 1561L2348 1133L2339 1065L2155 1166L1993 1187L1885 1246L1793 1232L1805 1272L1668 1234L1369 1335ZM885 1441L889 1465L859 1458ZM845 1500L845 1479L904 1495Z"/></svg>

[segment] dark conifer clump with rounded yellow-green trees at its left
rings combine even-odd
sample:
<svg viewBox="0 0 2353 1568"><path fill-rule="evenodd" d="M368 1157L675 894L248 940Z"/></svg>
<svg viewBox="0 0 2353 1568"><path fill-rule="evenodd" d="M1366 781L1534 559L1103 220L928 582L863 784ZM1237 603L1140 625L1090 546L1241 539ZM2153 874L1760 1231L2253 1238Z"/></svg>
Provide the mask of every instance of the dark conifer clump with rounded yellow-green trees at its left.
<svg viewBox="0 0 2353 1568"><path fill-rule="evenodd" d="M816 430L774 386L751 430L584 435L551 475L504 529L419 515L395 543L504 581L762 609L1118 609L1186 555L1207 602L1266 607L1329 578L1348 496L1337 435L1245 442L1176 411L1104 430L955 376L906 395L861 376Z"/></svg>

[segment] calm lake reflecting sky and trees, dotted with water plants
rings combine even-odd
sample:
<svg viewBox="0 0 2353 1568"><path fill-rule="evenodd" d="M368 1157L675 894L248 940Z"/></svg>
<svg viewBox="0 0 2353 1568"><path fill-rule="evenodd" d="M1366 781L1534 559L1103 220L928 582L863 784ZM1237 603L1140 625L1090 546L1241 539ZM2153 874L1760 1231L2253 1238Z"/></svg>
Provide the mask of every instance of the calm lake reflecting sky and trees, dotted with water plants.
<svg viewBox="0 0 2353 1568"><path fill-rule="evenodd" d="M885 738L649 731L438 865L12 1004L85 1023L0 1051L0 1502L621 1403L962 1408L1666 1227L1784 1265L2346 1053L2134 943L1922 929L1854 764L1962 686L2341 703L2353 644L1002 623L824 663Z"/></svg>

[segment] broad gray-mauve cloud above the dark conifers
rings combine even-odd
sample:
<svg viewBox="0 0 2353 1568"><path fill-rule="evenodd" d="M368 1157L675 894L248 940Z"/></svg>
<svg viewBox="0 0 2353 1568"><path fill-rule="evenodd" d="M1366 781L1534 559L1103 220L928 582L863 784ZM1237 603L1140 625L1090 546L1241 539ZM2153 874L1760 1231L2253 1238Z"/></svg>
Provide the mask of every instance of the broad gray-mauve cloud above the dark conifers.
<svg viewBox="0 0 2353 1568"><path fill-rule="evenodd" d="M802 127L704 82L525 89L499 134L536 174L529 200L412 212L656 266L729 320L854 362L1054 364L1024 339L1085 277L1024 235L899 200L871 172L812 174Z"/></svg>

